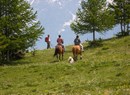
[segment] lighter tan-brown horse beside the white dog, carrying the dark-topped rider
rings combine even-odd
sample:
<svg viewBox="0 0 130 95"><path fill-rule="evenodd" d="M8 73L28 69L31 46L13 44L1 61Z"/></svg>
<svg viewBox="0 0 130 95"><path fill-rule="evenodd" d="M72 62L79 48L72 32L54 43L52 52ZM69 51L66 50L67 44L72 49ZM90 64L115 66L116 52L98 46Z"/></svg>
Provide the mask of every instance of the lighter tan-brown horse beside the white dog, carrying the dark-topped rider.
<svg viewBox="0 0 130 95"><path fill-rule="evenodd" d="M74 45L72 47L72 52L73 52L73 58L75 61L77 61L79 54L80 54L80 59L82 59L82 51L81 51L80 45Z"/></svg>

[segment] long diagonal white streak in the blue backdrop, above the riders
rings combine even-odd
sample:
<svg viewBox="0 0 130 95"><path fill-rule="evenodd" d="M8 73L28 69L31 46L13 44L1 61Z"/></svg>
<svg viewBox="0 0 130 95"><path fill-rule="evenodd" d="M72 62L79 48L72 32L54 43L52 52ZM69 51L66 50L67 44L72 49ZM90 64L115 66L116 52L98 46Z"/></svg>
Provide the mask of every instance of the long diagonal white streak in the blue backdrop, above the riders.
<svg viewBox="0 0 130 95"><path fill-rule="evenodd" d="M70 24L71 24L71 23L75 20L75 18L76 18L76 15L75 15L75 14L73 14L73 13L71 13L71 12L69 12L69 13L72 15L72 18L71 18L70 20L64 22L64 24L63 24L63 26L62 26L62 29L58 32L59 34L61 34L62 32L64 32L64 31L65 31L65 28L66 28L67 26L70 26Z"/></svg>

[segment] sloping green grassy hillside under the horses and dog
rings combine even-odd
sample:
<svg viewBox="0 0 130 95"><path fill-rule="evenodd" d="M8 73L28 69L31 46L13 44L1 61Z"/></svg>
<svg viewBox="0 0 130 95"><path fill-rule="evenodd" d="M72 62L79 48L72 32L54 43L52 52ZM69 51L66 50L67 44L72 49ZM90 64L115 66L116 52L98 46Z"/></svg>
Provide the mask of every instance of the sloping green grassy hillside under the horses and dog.
<svg viewBox="0 0 130 95"><path fill-rule="evenodd" d="M74 64L67 62L67 46L63 61L49 49L1 66L0 95L130 95L130 36L84 47Z"/></svg>

